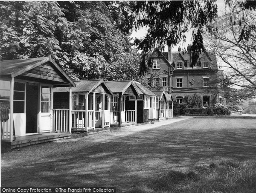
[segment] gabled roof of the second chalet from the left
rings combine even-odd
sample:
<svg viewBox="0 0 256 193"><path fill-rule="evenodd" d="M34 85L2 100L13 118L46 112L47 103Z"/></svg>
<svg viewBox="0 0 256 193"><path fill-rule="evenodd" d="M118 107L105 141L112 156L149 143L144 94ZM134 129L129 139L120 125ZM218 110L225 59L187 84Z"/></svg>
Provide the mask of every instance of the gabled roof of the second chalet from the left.
<svg viewBox="0 0 256 193"><path fill-rule="evenodd" d="M72 92L92 92L97 88L100 84L103 84L105 88L109 91L111 95L113 93L109 89L108 85L102 79L99 80L83 80L83 81L74 81L76 83L76 87L72 88ZM60 87L53 89L53 92L69 92L69 87Z"/></svg>

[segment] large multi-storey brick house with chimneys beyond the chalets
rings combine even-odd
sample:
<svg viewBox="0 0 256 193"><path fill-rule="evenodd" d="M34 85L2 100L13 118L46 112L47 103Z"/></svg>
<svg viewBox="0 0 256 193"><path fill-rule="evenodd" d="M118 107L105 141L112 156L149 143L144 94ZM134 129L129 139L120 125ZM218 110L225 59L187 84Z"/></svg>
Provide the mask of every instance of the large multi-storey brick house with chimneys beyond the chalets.
<svg viewBox="0 0 256 193"><path fill-rule="evenodd" d="M153 65L148 72L148 85L154 90L164 90L171 93L174 101L183 102L186 95L199 95L203 105L213 106L215 103L224 104L225 100L218 92L218 78L222 71L218 70L216 56L213 52L201 52L198 62L193 68L191 46L187 52L160 52L155 49L151 55Z"/></svg>

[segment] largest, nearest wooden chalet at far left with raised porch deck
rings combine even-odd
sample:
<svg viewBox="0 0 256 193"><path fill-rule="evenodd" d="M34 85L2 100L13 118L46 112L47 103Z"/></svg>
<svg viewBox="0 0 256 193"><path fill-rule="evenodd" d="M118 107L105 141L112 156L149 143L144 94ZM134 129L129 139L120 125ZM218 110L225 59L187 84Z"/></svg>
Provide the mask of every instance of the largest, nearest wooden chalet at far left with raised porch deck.
<svg viewBox="0 0 256 193"><path fill-rule="evenodd" d="M11 148L70 138L68 113L65 127L53 128L53 87L75 83L51 57L0 62L1 144ZM3 146L2 146L3 147Z"/></svg>

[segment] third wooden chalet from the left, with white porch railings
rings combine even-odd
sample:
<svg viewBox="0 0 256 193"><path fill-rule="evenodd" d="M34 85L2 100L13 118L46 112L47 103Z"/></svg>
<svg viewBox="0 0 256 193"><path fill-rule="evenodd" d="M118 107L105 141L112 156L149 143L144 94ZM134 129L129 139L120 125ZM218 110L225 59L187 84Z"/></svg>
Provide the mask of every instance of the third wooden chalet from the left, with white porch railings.
<svg viewBox="0 0 256 193"><path fill-rule="evenodd" d="M113 92L111 96L111 126L127 126L137 123L137 97L140 97L132 81L105 82Z"/></svg>

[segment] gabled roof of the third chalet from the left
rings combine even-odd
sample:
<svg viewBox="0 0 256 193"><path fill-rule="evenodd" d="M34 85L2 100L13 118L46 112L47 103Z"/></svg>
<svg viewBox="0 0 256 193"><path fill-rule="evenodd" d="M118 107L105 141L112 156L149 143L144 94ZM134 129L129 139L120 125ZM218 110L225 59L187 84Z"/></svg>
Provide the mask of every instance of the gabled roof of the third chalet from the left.
<svg viewBox="0 0 256 193"><path fill-rule="evenodd" d="M122 95L125 93L125 91L129 88L129 86L133 86L132 81L106 81L105 84L108 85L108 87L111 89L111 92L113 93L122 93ZM138 96L140 94L137 92L137 90L134 88L134 91L136 92Z"/></svg>

